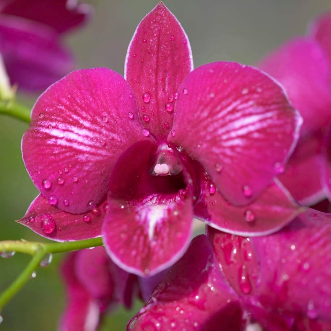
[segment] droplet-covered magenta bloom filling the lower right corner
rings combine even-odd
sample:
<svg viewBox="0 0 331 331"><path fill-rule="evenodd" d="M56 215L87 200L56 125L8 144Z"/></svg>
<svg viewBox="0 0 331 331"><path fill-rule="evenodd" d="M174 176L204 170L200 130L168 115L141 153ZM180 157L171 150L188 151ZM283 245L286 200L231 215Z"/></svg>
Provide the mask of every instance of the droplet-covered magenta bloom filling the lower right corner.
<svg viewBox="0 0 331 331"><path fill-rule="evenodd" d="M244 238L208 228L128 323L134 331L331 329L331 214Z"/></svg>

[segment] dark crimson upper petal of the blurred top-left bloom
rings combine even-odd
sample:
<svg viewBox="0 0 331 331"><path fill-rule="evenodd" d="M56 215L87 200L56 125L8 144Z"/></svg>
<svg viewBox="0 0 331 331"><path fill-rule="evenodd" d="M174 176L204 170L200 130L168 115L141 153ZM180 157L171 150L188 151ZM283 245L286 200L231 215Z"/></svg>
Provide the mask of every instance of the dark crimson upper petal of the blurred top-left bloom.
<svg viewBox="0 0 331 331"><path fill-rule="evenodd" d="M2 14L43 23L59 33L82 24L92 11L91 6L79 4L76 0L14 0L1 8Z"/></svg>

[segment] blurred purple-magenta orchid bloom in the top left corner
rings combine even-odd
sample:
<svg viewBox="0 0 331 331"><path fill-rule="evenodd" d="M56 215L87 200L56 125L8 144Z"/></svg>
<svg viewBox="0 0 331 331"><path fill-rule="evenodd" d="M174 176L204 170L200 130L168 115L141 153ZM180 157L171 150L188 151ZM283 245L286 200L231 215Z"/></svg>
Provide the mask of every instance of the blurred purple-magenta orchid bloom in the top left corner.
<svg viewBox="0 0 331 331"><path fill-rule="evenodd" d="M76 0L0 0L0 53L12 84L40 91L74 67L61 36L88 19Z"/></svg>

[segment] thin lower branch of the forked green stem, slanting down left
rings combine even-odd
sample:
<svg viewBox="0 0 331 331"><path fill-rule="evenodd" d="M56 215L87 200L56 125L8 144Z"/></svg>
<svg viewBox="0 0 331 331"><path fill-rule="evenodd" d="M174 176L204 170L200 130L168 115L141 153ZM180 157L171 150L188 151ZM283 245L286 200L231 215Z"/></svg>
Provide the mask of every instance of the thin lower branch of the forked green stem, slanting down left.
<svg viewBox="0 0 331 331"><path fill-rule="evenodd" d="M10 301L22 286L30 279L32 272L38 267L45 255L43 249L39 250L14 282L0 295L0 310Z"/></svg>

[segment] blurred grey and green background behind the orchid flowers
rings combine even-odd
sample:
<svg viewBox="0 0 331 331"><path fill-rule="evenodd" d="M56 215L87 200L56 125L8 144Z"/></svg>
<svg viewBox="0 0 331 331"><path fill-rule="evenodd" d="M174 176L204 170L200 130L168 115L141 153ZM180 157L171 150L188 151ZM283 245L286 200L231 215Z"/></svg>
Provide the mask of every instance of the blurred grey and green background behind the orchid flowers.
<svg viewBox="0 0 331 331"><path fill-rule="evenodd" d="M123 73L126 49L136 25L157 1L89 2L95 7L92 22L71 33L66 43L76 55L78 67L110 67ZM186 30L195 67L219 60L254 64L286 39L305 33L311 19L331 9L330 0L164 2ZM23 99L32 105L36 97ZM21 159L21 137L27 125L4 116L0 123L0 240L41 240L14 222L24 215L38 193ZM56 330L65 300L58 274L62 258L58 254L49 267L39 268L36 278L5 307L0 330ZM23 254L0 260L0 291L14 280L28 260ZM129 312L116 311L106 318L102 329L124 330L129 316L138 308L139 304Z"/></svg>

